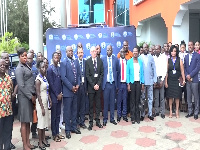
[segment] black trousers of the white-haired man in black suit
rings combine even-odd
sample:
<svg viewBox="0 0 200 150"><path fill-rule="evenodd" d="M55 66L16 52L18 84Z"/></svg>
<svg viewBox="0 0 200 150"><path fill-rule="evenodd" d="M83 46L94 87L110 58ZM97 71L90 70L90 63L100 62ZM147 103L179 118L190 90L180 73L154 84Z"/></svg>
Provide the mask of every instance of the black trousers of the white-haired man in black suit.
<svg viewBox="0 0 200 150"><path fill-rule="evenodd" d="M98 91L95 91L95 93L88 93L89 97L89 123L92 125L93 124L93 117L94 117L94 104L95 104L95 110L96 110L96 115L95 115L95 120L97 123L100 122L99 116L100 116L100 111L101 111L101 90L99 89Z"/></svg>

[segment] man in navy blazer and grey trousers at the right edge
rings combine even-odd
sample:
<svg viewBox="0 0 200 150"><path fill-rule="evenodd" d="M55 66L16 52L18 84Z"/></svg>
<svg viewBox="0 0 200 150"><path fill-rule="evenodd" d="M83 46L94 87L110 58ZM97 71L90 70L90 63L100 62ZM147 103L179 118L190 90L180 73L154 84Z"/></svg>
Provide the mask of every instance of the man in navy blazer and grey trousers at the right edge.
<svg viewBox="0 0 200 150"><path fill-rule="evenodd" d="M200 70L200 55L194 51L194 43L190 41L188 43L189 54L184 58L184 70L187 79L187 103L188 114L186 118L192 117L194 113L194 119L198 119L199 113L199 93L198 93L198 72ZM194 95L195 109L192 107L192 94Z"/></svg>

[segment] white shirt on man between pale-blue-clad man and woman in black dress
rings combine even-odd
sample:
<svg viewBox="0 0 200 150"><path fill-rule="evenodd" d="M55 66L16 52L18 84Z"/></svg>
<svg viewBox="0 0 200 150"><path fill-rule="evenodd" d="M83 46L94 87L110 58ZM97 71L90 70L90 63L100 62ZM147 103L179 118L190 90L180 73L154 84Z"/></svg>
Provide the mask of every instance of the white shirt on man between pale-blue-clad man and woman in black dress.
<svg viewBox="0 0 200 150"><path fill-rule="evenodd" d="M160 54L158 57L153 56L156 67L157 77L162 76L161 80L164 81L167 74L167 61L166 55Z"/></svg>

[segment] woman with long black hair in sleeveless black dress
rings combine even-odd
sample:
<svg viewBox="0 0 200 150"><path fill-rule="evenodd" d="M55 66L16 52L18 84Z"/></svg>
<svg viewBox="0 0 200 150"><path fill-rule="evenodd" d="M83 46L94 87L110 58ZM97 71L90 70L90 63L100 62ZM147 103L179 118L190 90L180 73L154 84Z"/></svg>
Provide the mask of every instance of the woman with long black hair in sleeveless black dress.
<svg viewBox="0 0 200 150"><path fill-rule="evenodd" d="M181 97L181 86L185 85L185 74L183 62L180 59L179 50L172 45L169 50L170 58L168 59L168 70L165 80L165 87L167 88L167 98L169 98L169 118L172 118L172 102L176 102L176 118L179 118L179 99ZM183 82L180 85L180 77Z"/></svg>

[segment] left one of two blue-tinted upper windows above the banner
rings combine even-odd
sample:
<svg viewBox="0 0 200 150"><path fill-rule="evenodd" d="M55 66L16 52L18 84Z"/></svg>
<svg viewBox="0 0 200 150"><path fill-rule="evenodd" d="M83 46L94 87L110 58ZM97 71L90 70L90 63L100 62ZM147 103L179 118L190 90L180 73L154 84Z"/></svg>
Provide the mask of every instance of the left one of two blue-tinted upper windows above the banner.
<svg viewBox="0 0 200 150"><path fill-rule="evenodd" d="M79 24L104 23L104 0L79 0Z"/></svg>

